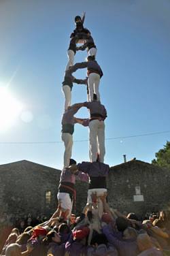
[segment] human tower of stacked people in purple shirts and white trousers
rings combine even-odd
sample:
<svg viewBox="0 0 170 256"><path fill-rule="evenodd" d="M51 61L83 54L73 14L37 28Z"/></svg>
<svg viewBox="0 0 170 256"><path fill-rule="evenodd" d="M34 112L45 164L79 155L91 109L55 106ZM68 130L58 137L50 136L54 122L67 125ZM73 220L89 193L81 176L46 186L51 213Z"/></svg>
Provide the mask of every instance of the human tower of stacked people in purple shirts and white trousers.
<svg viewBox="0 0 170 256"><path fill-rule="evenodd" d="M75 30L71 33L69 49L67 50L68 63L65 69L65 76L62 91L65 96L65 112L62 116L61 138L65 144L64 164L61 173L60 185L58 187L58 201L61 202L62 217L68 219L71 214L73 198L75 200L75 175L89 183L88 189L88 206L92 205L92 193L99 197L107 191L106 176L109 172L109 165L104 162L105 156L105 123L107 117L105 106L101 104L99 94L99 82L103 76L101 67L96 61L97 48L88 29L84 24L85 13L83 18L75 17ZM82 46L77 46L82 44ZM75 63L76 52L87 49L88 57L82 63ZM86 68L86 78L76 79L72 74L78 69ZM87 101L84 103L75 103L71 106L71 89L73 83L86 84ZM89 118L75 118L75 114L82 107L89 110ZM89 130L89 162L76 164L71 159L73 146L73 132L75 123L87 126ZM103 204L98 199L99 215L103 214Z"/></svg>

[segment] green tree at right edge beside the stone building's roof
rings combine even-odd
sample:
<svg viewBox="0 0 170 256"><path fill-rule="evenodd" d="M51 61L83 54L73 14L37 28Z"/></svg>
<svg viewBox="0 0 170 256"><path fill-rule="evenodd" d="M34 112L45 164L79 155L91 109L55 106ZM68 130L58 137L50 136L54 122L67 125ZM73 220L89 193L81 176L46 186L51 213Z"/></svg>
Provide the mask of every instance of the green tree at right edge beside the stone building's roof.
<svg viewBox="0 0 170 256"><path fill-rule="evenodd" d="M158 153L155 153L155 157L156 159L152 160L152 164L165 167L170 170L170 142L167 141L164 148L158 150Z"/></svg>

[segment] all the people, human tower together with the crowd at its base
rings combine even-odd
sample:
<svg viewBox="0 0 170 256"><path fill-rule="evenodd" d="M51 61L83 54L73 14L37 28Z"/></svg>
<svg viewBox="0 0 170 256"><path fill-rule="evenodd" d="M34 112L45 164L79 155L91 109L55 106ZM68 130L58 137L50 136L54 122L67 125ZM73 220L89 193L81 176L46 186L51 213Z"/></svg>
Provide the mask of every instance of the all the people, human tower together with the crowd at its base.
<svg viewBox="0 0 170 256"><path fill-rule="evenodd" d="M10 235L3 242L1 256L146 256L170 255L170 221L165 212L146 214L141 220L133 212L122 214L107 204L109 165L105 156L105 118L107 112L101 104L99 82L103 76L96 61L97 47L90 31L84 28L84 18L75 17L75 30L67 55L62 91L65 95L65 112L62 117L61 136L65 144L64 166L58 186L58 208L47 219L40 216L17 215L1 218L1 223L11 224ZM82 46L77 46L82 44ZM87 49L85 62L75 63L75 53ZM87 68L83 80L73 77L73 72ZM86 84L88 101L71 106L73 82ZM89 110L89 118L76 118L80 108ZM74 124L89 129L89 162L76 163L71 159ZM72 214L75 203L75 181L88 182L87 204L82 214ZM75 207L75 206L74 206ZM8 225L9 226L9 225ZM8 230L9 231L9 230ZM4 238L1 236L1 238Z"/></svg>

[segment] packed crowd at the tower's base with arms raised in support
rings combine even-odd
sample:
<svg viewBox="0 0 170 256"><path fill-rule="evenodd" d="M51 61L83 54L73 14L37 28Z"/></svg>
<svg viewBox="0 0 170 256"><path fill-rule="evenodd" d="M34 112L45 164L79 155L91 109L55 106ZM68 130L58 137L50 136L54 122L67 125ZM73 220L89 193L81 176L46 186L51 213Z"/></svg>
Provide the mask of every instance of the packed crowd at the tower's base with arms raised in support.
<svg viewBox="0 0 170 256"><path fill-rule="evenodd" d="M109 208L105 193L100 197L103 214L99 217L98 197L95 193L91 197L91 215L86 204L79 217L70 214L69 219L64 219L59 204L43 223L24 230L14 227L4 241L1 256L170 255L170 213L147 213L149 219L143 217L141 221L133 212L126 216ZM27 219L31 218L28 215Z"/></svg>

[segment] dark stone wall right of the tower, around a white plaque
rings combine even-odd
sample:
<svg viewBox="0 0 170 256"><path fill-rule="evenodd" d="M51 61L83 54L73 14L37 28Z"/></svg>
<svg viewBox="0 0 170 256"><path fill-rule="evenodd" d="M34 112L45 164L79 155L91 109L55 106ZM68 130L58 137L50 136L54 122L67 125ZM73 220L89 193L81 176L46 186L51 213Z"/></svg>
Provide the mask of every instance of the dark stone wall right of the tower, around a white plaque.
<svg viewBox="0 0 170 256"><path fill-rule="evenodd" d="M170 171L142 161L129 161L111 168L107 182L109 205L120 212L146 212L166 208L170 202ZM140 187L143 202L134 202Z"/></svg>

